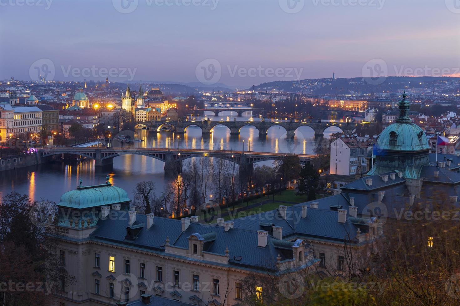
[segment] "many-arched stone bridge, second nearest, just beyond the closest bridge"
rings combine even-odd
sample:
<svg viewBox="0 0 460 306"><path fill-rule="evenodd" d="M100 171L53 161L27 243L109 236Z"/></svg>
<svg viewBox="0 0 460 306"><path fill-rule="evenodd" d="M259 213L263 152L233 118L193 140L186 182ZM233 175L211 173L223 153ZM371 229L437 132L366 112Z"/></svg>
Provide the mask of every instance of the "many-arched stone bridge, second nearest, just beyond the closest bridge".
<svg viewBox="0 0 460 306"><path fill-rule="evenodd" d="M259 137L267 135L268 129L274 126L282 127L286 130L286 138L293 139L295 131L302 126L307 126L315 131L315 139L322 138L324 136L324 130L329 127L338 127L345 134L351 134L358 126L354 122L284 122L284 121L213 121L213 120L200 120L200 121L151 121L151 122L138 122L137 128L148 127L150 132L156 133L164 126L168 126L173 129L176 134L184 134L187 128L196 126L201 128L203 135L209 135L213 132L213 128L216 126L226 126L230 129L230 135L239 135L242 127L253 126L259 130Z"/></svg>

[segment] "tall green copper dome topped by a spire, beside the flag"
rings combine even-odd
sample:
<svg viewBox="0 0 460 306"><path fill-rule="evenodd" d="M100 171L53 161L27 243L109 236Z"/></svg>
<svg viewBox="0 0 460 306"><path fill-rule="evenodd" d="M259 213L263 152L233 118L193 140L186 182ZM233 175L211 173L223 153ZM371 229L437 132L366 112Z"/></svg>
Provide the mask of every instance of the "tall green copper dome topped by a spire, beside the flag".
<svg viewBox="0 0 460 306"><path fill-rule="evenodd" d="M404 92L403 100L399 102L400 115L396 122L385 128L379 136L377 144L380 150L406 152L430 150L426 134L408 116L409 102L406 96Z"/></svg>

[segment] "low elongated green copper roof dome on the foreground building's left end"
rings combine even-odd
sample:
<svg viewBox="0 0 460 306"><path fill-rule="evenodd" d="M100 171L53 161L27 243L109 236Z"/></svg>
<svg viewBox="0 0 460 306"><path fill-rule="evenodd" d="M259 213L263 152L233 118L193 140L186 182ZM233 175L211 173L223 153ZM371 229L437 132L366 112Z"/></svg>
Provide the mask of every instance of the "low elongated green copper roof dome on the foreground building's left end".
<svg viewBox="0 0 460 306"><path fill-rule="evenodd" d="M74 209L88 209L104 205L121 204L131 201L125 190L110 183L95 186L80 186L61 196L57 206Z"/></svg>

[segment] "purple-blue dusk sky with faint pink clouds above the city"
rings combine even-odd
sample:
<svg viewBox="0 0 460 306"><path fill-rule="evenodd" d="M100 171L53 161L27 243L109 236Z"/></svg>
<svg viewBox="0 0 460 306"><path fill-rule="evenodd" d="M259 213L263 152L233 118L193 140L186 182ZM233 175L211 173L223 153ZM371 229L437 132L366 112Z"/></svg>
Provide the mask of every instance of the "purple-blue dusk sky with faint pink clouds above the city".
<svg viewBox="0 0 460 306"><path fill-rule="evenodd" d="M0 79L460 76L458 0L0 0Z"/></svg>

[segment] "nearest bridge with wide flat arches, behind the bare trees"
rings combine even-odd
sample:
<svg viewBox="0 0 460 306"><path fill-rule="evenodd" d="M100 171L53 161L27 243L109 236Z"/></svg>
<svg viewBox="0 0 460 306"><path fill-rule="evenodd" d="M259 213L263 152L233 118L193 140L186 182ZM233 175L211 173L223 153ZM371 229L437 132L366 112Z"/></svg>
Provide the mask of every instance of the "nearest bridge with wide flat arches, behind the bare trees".
<svg viewBox="0 0 460 306"><path fill-rule="evenodd" d="M78 147L52 147L40 148L36 151L38 163L55 155L73 154L94 159L95 166L105 166L113 164L116 156L136 154L155 158L165 163L165 174L171 175L180 173L182 162L193 157L214 157L222 158L239 165L240 172L252 172L254 163L259 161L274 161L284 155L284 153L236 151L236 150L202 150L202 149L163 149L163 148L130 148L130 147L109 147L109 148L78 148ZM299 154L301 164L308 163L315 155ZM171 171L178 170L178 172Z"/></svg>

